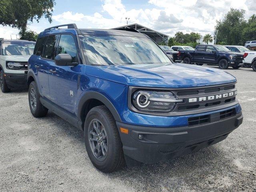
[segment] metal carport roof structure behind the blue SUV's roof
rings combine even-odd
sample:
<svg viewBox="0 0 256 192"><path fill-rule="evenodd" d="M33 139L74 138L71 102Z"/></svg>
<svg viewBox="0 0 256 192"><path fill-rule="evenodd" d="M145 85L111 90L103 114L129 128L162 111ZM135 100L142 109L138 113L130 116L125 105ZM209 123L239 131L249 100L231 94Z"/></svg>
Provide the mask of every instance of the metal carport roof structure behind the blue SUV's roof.
<svg viewBox="0 0 256 192"><path fill-rule="evenodd" d="M169 37L168 35L158 32L156 30L150 29L148 27L142 26L137 23L124 25L124 26L120 26L112 29L126 29L126 28L135 29L140 33L144 33L148 35L157 44L166 44L166 45L168 44L168 37Z"/></svg>

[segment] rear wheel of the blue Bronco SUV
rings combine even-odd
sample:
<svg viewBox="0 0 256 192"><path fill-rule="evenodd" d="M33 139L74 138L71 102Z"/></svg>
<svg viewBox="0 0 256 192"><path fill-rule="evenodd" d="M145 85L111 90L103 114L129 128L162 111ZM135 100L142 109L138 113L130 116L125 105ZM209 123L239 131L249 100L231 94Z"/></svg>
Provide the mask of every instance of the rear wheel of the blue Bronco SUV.
<svg viewBox="0 0 256 192"><path fill-rule="evenodd" d="M46 116L48 109L40 102L40 94L38 92L36 82L32 81L28 87L28 103L30 112L34 117Z"/></svg>

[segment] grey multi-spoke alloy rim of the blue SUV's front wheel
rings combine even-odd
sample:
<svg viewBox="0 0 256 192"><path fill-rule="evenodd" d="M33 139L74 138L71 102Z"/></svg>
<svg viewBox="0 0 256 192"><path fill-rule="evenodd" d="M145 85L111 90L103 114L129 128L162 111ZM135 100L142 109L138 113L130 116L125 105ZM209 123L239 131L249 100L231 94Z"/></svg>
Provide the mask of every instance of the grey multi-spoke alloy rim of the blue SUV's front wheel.
<svg viewBox="0 0 256 192"><path fill-rule="evenodd" d="M108 136L100 120L93 119L88 128L88 139L94 157L98 161L106 159L108 154Z"/></svg>

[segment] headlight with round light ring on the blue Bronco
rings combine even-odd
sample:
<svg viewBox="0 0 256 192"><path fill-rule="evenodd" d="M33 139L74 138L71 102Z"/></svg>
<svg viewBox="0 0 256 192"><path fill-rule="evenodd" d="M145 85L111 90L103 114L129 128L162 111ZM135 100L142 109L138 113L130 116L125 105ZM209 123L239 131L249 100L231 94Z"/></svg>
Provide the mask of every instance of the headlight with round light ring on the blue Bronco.
<svg viewBox="0 0 256 192"><path fill-rule="evenodd" d="M178 99L172 92L136 91L132 95L133 106L141 111L171 112L178 102L184 100Z"/></svg>

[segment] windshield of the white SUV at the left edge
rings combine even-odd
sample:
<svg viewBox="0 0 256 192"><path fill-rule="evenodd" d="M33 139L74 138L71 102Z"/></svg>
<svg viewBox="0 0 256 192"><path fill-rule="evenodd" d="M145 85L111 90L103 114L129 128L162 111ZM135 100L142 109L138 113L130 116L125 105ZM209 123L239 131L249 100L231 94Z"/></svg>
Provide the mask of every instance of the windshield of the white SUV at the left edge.
<svg viewBox="0 0 256 192"><path fill-rule="evenodd" d="M32 55L34 42L10 42L2 44L3 55Z"/></svg>

